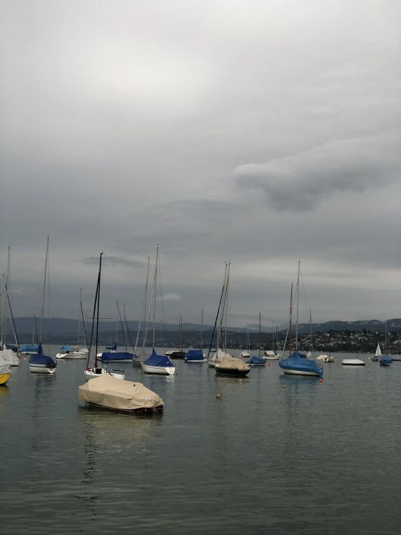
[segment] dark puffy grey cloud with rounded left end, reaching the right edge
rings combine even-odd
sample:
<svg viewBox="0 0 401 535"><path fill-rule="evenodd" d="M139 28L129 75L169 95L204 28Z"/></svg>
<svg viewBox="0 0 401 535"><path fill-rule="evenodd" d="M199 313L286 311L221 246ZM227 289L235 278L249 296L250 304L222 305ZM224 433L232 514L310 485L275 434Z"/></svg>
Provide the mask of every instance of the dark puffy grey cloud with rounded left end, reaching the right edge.
<svg viewBox="0 0 401 535"><path fill-rule="evenodd" d="M363 192L400 181L400 131L335 140L285 158L239 165L245 188L260 188L276 210L313 210L335 193Z"/></svg>

